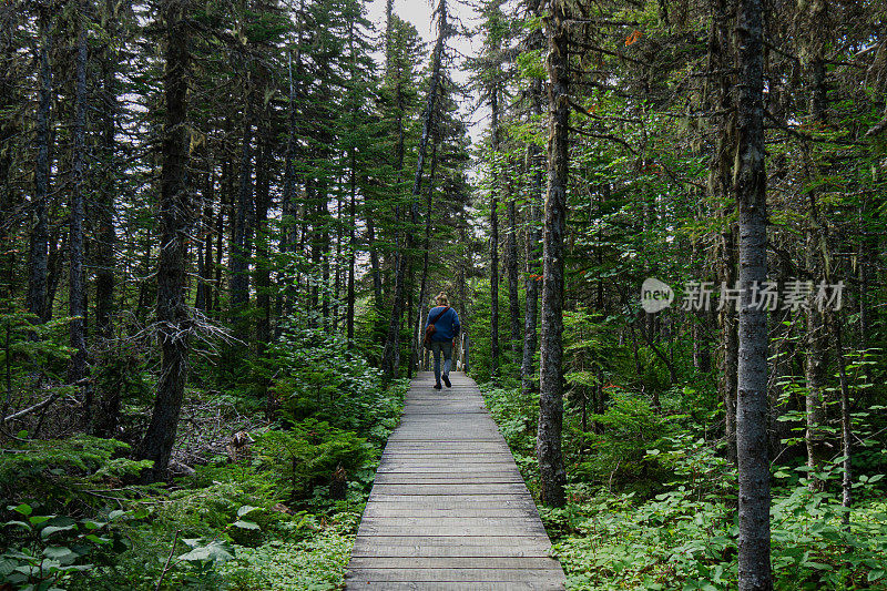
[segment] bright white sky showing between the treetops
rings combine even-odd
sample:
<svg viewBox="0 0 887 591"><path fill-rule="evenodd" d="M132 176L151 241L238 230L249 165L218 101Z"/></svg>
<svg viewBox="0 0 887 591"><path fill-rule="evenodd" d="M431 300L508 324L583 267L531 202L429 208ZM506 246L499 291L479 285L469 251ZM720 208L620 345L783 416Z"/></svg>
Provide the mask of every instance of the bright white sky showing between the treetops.
<svg viewBox="0 0 887 591"><path fill-rule="evenodd" d="M401 19L411 22L416 27L416 30L419 31L422 40L428 43L429 57L434 42L437 39L437 27L436 23L431 22L431 1L437 3L437 0L395 0L394 6L395 13ZM378 31L385 30L385 2L386 0L367 1L369 20L376 26ZM447 7L449 9L450 21L455 23L461 21L460 29L471 29L478 26L479 21L471 7L463 4L459 0L448 0ZM473 55L475 51L479 49L479 43L475 42L475 45L477 47L472 47L470 38L463 35L450 38L448 41L450 54L456 55L456 63L453 64L451 75L459 84L465 84L468 80L468 74L461 70L462 57ZM473 103L476 99L472 98L471 101ZM469 110L475 106L472 103L469 104L468 101L466 101L462 105L462 112L466 116L466 123L469 124L468 131L471 141L472 143L477 143L480 139L483 125L486 124L486 115L483 110L470 114ZM469 121L469 119L471 121ZM475 124L471 125L471 123Z"/></svg>

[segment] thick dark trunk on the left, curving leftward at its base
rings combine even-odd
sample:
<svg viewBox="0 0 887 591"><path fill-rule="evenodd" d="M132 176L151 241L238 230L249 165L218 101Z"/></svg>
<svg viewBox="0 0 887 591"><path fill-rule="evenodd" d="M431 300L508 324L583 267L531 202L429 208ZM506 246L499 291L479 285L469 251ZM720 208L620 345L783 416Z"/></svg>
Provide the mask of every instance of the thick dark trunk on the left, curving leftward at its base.
<svg viewBox="0 0 887 591"><path fill-rule="evenodd" d="M184 21L187 7L180 0L164 0L161 10L161 22L166 30L166 104L159 207L161 249L156 314L163 357L151 424L137 452L140 458L154 461L154 466L143 472L143 479L149 482L166 477L187 379L191 333L184 297L187 238L193 216L187 187L187 71L191 58L190 31Z"/></svg>

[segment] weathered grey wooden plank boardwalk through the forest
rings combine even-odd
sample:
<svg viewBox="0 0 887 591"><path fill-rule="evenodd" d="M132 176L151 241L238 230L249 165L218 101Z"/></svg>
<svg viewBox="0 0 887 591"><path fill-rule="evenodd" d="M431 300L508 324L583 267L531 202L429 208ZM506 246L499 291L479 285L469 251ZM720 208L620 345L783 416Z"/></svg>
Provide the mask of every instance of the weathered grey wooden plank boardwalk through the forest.
<svg viewBox="0 0 887 591"><path fill-rule="evenodd" d="M565 579L514 459L477 385L451 374L410 385L388 438L346 588L562 590Z"/></svg>

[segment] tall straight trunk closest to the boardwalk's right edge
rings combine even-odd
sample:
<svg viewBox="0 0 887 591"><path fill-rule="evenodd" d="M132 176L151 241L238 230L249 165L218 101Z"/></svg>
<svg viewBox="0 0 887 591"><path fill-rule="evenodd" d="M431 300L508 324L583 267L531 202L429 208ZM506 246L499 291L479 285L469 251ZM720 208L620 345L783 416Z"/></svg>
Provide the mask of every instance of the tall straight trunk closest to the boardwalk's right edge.
<svg viewBox="0 0 887 591"><path fill-rule="evenodd" d="M541 500L563 507L567 471L561 451L563 421L563 289L567 182L570 139L570 69L568 2L552 3L549 22L549 144L548 196L542 240L542 334L539 364L539 427L536 454L541 476Z"/></svg>

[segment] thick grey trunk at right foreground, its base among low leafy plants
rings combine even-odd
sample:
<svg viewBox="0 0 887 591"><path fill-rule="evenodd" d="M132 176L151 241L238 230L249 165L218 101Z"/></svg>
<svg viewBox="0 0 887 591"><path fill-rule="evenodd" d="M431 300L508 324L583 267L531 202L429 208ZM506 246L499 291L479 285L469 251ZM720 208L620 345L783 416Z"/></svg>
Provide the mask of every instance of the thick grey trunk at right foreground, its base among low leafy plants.
<svg viewBox="0 0 887 591"><path fill-rule="evenodd" d="M738 589L773 589L769 563L769 463L767 461L767 315L752 304L752 286L767 278L764 171L764 54L761 0L740 0L736 67L735 171L740 211L738 397L736 449L740 478Z"/></svg>

